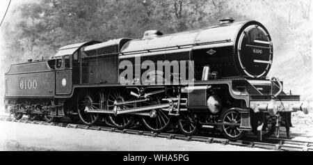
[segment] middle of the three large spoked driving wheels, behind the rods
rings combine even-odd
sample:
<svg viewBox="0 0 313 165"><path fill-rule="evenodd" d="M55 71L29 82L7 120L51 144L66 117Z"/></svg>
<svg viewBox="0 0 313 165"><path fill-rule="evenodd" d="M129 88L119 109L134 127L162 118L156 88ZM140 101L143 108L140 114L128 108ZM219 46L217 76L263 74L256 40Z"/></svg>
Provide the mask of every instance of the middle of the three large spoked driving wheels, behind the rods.
<svg viewBox="0 0 313 165"><path fill-rule="evenodd" d="M129 96L125 94L125 92L112 92L109 94L107 102L106 102L106 107L107 109L113 111L115 107L115 103L117 102L125 102L131 100ZM135 104L124 104L120 107L118 107L118 110L120 109L129 109L129 108L134 108ZM132 123L134 123L134 116L132 115L127 115L127 114L122 114L115 116L114 114L110 114L108 116L108 119L110 123L118 128L118 129L125 129L127 127L130 127Z"/></svg>

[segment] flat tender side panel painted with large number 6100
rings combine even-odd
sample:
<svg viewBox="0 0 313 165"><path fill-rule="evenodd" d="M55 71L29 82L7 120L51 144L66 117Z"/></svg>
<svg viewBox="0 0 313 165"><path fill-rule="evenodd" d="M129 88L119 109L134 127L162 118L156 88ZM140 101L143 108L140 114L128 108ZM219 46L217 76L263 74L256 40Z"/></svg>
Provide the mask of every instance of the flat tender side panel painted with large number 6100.
<svg viewBox="0 0 313 165"><path fill-rule="evenodd" d="M6 97L53 97L54 72L6 75Z"/></svg>

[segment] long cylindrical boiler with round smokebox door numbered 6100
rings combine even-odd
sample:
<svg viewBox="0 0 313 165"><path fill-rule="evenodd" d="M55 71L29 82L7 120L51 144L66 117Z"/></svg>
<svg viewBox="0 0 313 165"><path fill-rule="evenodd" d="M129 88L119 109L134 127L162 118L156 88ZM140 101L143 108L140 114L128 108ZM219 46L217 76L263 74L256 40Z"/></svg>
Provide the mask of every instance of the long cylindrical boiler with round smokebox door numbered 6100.
<svg viewBox="0 0 313 165"><path fill-rule="evenodd" d="M206 65L219 77L266 77L273 60L271 36L256 21L230 22L206 29L130 40L120 61L194 61L195 73ZM201 79L201 78L200 78Z"/></svg>

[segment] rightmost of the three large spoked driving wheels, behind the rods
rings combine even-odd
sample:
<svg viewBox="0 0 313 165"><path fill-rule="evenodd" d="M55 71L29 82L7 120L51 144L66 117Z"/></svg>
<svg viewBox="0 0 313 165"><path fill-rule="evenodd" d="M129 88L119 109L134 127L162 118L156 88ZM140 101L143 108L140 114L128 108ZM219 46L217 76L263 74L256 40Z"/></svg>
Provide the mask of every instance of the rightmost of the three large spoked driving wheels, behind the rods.
<svg viewBox="0 0 313 165"><path fill-rule="evenodd" d="M154 101L146 102L144 106L161 104L161 99L157 98ZM150 111L150 116L143 116L141 118L143 125L152 132L163 132L170 126L170 116L168 112L162 109L154 109Z"/></svg>

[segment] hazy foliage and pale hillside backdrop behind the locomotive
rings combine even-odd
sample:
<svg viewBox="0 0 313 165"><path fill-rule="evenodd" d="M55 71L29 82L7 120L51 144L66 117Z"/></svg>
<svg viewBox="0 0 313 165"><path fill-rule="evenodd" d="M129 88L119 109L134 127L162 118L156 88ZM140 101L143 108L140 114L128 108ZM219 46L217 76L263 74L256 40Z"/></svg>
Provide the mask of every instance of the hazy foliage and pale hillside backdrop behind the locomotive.
<svg viewBox="0 0 313 165"><path fill-rule="evenodd" d="M222 17L257 19L270 31L269 76L284 91L313 100L310 0L39 0L11 6L0 28L0 95L10 64L50 58L59 47L88 40L141 38L158 29L175 33L218 24Z"/></svg>

